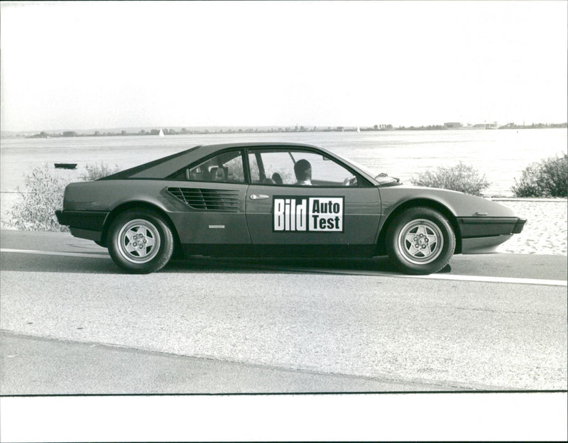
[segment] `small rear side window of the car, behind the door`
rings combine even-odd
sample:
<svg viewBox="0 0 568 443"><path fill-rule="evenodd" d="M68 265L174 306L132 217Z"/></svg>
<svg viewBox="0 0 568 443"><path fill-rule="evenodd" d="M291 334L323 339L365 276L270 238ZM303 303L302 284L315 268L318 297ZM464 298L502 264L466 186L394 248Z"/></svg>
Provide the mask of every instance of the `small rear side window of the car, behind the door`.
<svg viewBox="0 0 568 443"><path fill-rule="evenodd" d="M241 151L229 151L189 168L188 180L195 182L244 183Z"/></svg>

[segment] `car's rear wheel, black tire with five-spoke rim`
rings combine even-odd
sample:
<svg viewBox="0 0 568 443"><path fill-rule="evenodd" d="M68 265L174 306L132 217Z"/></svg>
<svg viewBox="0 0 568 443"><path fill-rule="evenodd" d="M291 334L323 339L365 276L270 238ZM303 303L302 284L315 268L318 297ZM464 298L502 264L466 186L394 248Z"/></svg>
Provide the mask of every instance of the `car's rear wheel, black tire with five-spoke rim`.
<svg viewBox="0 0 568 443"><path fill-rule="evenodd" d="M165 266L173 253L173 235L163 217L152 211L129 210L112 222L109 254L129 273L148 274Z"/></svg>

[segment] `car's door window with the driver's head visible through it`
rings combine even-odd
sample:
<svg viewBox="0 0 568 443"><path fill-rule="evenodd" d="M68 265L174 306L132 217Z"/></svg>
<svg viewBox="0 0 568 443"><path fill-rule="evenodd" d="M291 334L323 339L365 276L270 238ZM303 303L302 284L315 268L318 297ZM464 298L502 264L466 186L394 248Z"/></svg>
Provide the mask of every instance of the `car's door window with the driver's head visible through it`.
<svg viewBox="0 0 568 443"><path fill-rule="evenodd" d="M249 153L253 183L291 186L357 186L356 177L322 154L304 151Z"/></svg>

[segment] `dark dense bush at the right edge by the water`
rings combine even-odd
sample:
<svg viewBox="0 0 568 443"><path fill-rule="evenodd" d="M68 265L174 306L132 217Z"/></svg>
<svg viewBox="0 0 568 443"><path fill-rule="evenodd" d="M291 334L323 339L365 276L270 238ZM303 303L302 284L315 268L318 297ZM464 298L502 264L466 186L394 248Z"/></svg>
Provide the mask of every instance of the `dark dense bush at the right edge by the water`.
<svg viewBox="0 0 568 443"><path fill-rule="evenodd" d="M568 197L568 154L528 165L510 189L515 197Z"/></svg>

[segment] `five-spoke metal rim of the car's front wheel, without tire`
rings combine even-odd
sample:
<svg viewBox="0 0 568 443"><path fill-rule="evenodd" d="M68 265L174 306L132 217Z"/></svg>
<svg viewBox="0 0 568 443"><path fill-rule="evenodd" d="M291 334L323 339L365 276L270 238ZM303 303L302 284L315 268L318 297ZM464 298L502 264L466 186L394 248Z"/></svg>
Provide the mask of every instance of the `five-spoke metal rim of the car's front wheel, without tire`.
<svg viewBox="0 0 568 443"><path fill-rule="evenodd" d="M424 265L435 261L442 253L444 236L434 222L416 219L400 230L398 247L410 263Z"/></svg>

